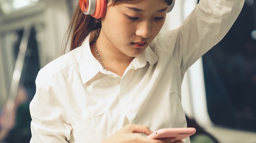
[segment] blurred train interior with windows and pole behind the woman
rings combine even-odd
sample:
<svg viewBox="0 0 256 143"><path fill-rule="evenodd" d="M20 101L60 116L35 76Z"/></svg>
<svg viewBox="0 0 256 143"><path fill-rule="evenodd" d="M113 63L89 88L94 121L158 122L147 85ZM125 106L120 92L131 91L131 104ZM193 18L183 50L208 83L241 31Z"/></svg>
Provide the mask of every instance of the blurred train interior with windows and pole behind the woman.
<svg viewBox="0 0 256 143"><path fill-rule="evenodd" d="M0 143L29 142L37 72L61 55L78 2L0 0ZM161 32L180 26L197 3L176 0ZM256 143L256 1L246 0L225 38L189 68L182 105L220 143Z"/></svg>

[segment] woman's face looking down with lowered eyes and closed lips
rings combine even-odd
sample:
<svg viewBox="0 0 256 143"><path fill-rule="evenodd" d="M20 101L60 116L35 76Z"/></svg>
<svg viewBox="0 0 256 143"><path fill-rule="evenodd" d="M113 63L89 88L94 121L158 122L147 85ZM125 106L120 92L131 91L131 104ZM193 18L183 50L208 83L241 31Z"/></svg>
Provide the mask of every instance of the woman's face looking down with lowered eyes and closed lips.
<svg viewBox="0 0 256 143"><path fill-rule="evenodd" d="M113 52L136 57L161 30L168 9L165 0L131 0L109 6L102 17L100 37Z"/></svg>

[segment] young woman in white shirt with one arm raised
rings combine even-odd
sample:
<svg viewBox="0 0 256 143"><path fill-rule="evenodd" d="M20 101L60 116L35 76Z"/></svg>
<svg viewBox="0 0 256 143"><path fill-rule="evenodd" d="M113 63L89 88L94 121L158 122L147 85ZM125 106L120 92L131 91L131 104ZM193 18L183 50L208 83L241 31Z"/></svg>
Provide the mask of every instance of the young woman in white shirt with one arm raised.
<svg viewBox="0 0 256 143"><path fill-rule="evenodd" d="M174 0L101 1L102 15L77 7L67 38L71 51L38 73L30 142L182 142L146 135L187 127L184 73L225 36L244 0L200 0L182 26L161 35Z"/></svg>

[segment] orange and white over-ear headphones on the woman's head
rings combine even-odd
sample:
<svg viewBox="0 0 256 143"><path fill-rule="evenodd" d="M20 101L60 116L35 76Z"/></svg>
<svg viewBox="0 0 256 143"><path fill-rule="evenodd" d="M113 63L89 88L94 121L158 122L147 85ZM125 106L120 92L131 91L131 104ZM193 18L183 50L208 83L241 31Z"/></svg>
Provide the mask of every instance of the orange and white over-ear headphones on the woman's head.
<svg viewBox="0 0 256 143"><path fill-rule="evenodd" d="M167 13L173 10L175 0L169 6ZM79 0L80 9L85 15L91 15L92 17L99 19L103 17L107 9L107 0Z"/></svg>

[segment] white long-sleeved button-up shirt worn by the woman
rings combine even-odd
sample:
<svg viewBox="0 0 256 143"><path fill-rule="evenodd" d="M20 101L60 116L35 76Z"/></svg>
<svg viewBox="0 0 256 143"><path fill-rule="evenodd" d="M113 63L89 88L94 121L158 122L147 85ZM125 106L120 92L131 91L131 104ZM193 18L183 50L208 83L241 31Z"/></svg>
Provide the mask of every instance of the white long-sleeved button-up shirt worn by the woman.
<svg viewBox="0 0 256 143"><path fill-rule="evenodd" d="M182 26L159 34L122 77L103 69L86 38L38 73L30 143L100 143L127 124L153 131L186 127L184 73L225 36L243 4L201 0Z"/></svg>

